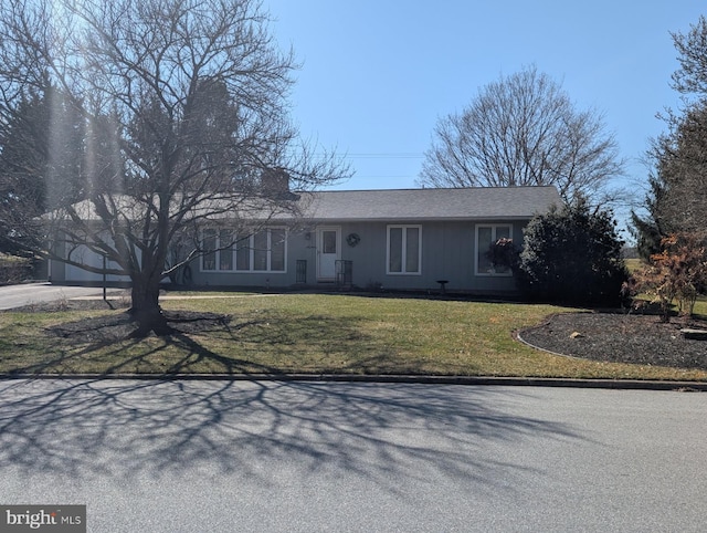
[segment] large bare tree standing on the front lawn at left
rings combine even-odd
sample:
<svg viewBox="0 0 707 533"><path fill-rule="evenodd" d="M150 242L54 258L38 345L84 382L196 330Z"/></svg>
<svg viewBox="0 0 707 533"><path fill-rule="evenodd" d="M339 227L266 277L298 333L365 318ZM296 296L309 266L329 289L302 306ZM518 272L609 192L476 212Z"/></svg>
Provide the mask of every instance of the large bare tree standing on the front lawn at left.
<svg viewBox="0 0 707 533"><path fill-rule="evenodd" d="M84 128L83 200L63 195L50 140L49 215L25 220L14 234L45 257L128 275L140 333L168 331L159 283L203 252L200 223L228 215L233 228L296 209L291 196L263 186L272 171L299 190L348 175L334 154L315 159L288 122L298 65L277 49L267 24L256 0L7 0L0 7L3 116L51 86ZM170 261L176 242L189 245ZM72 259L78 248L104 255L109 266Z"/></svg>

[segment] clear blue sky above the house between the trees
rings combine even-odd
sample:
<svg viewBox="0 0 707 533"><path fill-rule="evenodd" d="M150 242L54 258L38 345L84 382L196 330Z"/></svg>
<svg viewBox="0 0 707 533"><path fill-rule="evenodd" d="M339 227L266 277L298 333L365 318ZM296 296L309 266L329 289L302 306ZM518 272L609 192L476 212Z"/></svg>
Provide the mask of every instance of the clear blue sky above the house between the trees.
<svg viewBox="0 0 707 533"><path fill-rule="evenodd" d="M264 0L272 31L302 70L292 94L303 135L348 154L339 189L415 187L439 117L479 87L535 64L579 109L604 114L645 181L641 158L676 107L669 32L686 32L704 2L687 0Z"/></svg>

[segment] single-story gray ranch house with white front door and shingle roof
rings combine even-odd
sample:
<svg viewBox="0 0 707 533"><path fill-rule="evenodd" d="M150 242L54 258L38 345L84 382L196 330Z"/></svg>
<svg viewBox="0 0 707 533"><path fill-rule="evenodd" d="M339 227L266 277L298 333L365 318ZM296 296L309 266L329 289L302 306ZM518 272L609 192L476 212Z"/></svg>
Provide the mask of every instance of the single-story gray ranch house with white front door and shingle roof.
<svg viewBox="0 0 707 533"><path fill-rule="evenodd" d="M534 215L561 205L555 187L329 190L297 201L306 201L304 220L274 217L228 249L220 240L232 241L232 231L204 228L203 247L213 251L194 259L183 279L196 286L390 290L439 290L446 281L450 291L507 293L513 274L494 266L489 245L504 238L519 245ZM91 253L84 261L101 264ZM62 262L50 269L57 283L102 280Z"/></svg>

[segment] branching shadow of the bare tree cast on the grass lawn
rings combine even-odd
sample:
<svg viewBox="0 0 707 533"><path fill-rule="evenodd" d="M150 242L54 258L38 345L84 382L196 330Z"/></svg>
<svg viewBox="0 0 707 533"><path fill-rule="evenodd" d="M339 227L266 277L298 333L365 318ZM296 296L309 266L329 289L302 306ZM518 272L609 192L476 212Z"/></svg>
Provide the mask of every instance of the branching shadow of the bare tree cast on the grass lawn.
<svg viewBox="0 0 707 533"><path fill-rule="evenodd" d="M60 324L48 328L59 337L59 349L39 362L20 362L10 375L370 373L394 369L393 359L401 356L394 346L366 334L358 318L231 318L208 316L201 326L175 321L171 335L140 339L129 338L134 326L124 314Z"/></svg>

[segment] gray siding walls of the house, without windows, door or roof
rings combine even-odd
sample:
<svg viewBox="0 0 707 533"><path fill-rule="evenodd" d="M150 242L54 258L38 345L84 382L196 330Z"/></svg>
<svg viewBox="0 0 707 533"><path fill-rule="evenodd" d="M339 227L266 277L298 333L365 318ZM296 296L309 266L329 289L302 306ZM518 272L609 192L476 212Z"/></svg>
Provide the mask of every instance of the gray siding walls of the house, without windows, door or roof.
<svg viewBox="0 0 707 533"><path fill-rule="evenodd" d="M420 226L422 228L421 270L419 274L390 274L387 272L387 222L327 223L340 229L340 259L352 263L352 284L360 289L382 286L389 290L437 291L437 280L447 280L446 289L472 293L509 293L516 290L511 276L478 275L475 272L476 226L513 224L514 242L523 242L524 221L395 221L395 226ZM357 245L347 242L347 236L356 233ZM218 272L202 271L201 260L190 264L193 285L233 288L291 288L297 279L297 261L306 261L308 286L317 286L317 228L288 232L285 272ZM68 279L64 265L52 264L53 281L86 281ZM73 278L73 276L72 276Z"/></svg>

